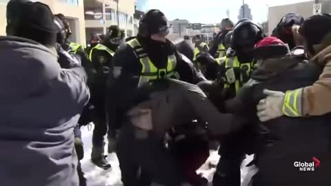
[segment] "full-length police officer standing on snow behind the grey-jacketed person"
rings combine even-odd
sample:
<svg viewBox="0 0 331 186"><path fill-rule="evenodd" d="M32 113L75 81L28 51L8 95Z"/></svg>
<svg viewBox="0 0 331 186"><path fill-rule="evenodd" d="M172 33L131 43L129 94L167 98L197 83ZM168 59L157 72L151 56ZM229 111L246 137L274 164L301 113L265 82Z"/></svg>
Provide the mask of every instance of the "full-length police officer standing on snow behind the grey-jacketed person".
<svg viewBox="0 0 331 186"><path fill-rule="evenodd" d="M105 107L106 81L112 69L112 58L122 42L122 32L117 25L111 25L106 39L90 50L89 58L97 70L95 81L92 85L92 103L94 105L94 130L92 136L92 163L103 169L111 166L104 155L103 136L108 134L108 152L114 152L116 132L108 127Z"/></svg>

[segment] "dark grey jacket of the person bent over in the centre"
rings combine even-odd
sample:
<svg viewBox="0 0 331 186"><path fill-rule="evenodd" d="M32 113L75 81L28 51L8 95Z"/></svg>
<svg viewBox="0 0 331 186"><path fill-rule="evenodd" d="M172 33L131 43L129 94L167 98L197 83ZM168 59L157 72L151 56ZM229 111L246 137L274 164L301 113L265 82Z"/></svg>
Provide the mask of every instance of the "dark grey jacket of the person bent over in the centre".
<svg viewBox="0 0 331 186"><path fill-rule="evenodd" d="M241 118L219 112L197 85L174 79L162 83L165 90L152 92L150 99L128 112L136 127L151 130L161 137L171 127L198 119L208 123L212 136L221 136L237 130L243 124Z"/></svg>

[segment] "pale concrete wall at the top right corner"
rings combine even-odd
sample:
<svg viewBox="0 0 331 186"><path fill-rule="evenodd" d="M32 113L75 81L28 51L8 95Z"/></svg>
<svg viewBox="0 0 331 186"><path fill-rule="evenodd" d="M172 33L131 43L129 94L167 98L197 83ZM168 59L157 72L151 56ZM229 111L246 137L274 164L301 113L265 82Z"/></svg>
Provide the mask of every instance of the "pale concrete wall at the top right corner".
<svg viewBox="0 0 331 186"><path fill-rule="evenodd" d="M322 3L322 13L331 12L331 1L324 0ZM295 3L285 6L274 6L269 8L269 34L276 28L281 18L288 13L297 13L305 19L312 16L314 1L307 1L303 3Z"/></svg>

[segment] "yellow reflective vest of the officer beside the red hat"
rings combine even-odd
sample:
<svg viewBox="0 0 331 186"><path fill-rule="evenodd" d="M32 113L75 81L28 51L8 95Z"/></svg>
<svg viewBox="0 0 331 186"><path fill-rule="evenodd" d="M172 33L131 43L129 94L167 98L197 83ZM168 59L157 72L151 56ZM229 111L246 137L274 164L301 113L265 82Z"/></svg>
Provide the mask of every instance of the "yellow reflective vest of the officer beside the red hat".
<svg viewBox="0 0 331 186"><path fill-rule="evenodd" d="M229 57L225 60L225 70L228 72L229 70L232 70L233 68L239 68L239 69L243 69L243 68L247 68L247 70L245 70L246 72L246 76L250 77L250 74L252 72L252 63L240 63L237 56L234 57ZM243 86L244 83L246 83L248 81L248 79L246 81L244 81L243 79L243 74L240 73L240 77L238 77L236 74L234 74L234 87L236 90L236 94L239 93L240 88ZM229 77L226 76L226 79L229 81ZM233 83L225 83L224 87L228 88L230 87L230 84Z"/></svg>

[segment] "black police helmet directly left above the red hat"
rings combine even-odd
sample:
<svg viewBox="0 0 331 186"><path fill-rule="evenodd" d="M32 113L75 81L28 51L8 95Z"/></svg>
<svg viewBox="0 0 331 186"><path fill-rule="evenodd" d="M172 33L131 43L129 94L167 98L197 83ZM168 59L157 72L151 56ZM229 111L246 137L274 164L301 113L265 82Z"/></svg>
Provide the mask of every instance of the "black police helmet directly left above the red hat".
<svg viewBox="0 0 331 186"><path fill-rule="evenodd" d="M234 50L254 48L254 45L263 37L263 31L259 25L251 21L241 21L234 27L231 46Z"/></svg>

